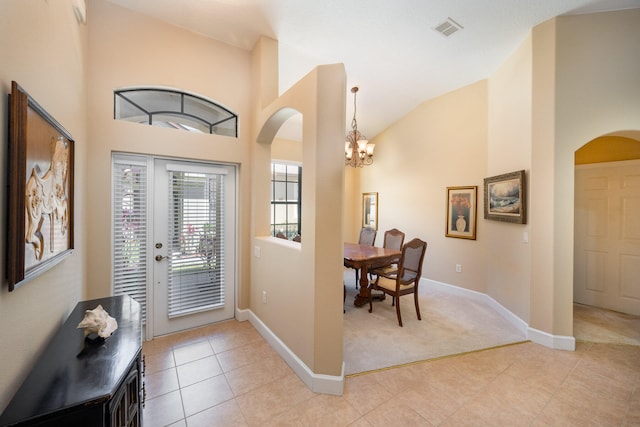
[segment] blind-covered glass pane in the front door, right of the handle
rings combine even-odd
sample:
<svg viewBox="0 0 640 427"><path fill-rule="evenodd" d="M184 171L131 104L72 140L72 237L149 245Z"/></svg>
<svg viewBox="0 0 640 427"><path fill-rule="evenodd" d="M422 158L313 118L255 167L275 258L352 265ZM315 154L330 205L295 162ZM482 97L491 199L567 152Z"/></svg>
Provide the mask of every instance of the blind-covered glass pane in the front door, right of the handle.
<svg viewBox="0 0 640 427"><path fill-rule="evenodd" d="M223 307L224 170L169 172L168 315Z"/></svg>

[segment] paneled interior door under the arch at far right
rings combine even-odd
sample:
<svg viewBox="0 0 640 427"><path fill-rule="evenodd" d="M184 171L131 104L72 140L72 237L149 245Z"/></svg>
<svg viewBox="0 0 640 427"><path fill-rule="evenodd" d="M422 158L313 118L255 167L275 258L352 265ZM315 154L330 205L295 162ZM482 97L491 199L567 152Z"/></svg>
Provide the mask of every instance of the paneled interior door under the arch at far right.
<svg viewBox="0 0 640 427"><path fill-rule="evenodd" d="M574 301L640 315L640 160L576 167Z"/></svg>

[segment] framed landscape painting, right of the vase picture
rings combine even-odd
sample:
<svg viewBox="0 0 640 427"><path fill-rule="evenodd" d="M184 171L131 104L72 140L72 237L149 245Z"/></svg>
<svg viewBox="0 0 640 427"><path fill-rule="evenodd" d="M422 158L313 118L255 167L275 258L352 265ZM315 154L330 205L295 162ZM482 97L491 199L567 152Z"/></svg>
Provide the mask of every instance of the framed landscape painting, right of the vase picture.
<svg viewBox="0 0 640 427"><path fill-rule="evenodd" d="M484 217L495 221L527 223L524 170L484 179Z"/></svg>

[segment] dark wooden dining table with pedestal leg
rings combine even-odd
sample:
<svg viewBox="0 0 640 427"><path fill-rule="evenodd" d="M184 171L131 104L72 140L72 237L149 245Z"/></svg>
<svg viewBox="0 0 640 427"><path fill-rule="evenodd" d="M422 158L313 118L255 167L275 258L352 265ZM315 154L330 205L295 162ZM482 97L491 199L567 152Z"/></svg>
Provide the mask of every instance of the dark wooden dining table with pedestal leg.
<svg viewBox="0 0 640 427"><path fill-rule="evenodd" d="M360 291L353 305L361 307L369 302L369 270L398 262L402 252L378 246L344 243L344 266L360 270Z"/></svg>

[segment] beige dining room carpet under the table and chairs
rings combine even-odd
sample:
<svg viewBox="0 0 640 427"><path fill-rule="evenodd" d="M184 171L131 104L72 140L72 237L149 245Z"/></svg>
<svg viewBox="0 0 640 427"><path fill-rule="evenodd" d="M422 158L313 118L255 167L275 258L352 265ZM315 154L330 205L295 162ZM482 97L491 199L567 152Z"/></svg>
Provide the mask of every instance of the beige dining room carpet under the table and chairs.
<svg viewBox="0 0 640 427"><path fill-rule="evenodd" d="M344 277L346 375L526 340L524 333L490 306L423 285L420 286L422 320L416 317L413 296L404 296L401 328L391 298L374 301L372 313L368 305L356 308L354 271L346 270Z"/></svg>

